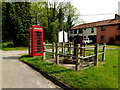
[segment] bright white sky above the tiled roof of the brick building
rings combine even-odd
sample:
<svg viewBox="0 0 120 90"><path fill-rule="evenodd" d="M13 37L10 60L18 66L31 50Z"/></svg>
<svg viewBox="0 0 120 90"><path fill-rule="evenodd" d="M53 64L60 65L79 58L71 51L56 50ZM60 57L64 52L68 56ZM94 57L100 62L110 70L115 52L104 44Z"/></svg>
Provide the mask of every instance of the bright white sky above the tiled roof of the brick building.
<svg viewBox="0 0 120 90"><path fill-rule="evenodd" d="M79 18L83 19L86 23L90 23L107 19L114 19L115 17L114 13L115 14L118 13L118 2L120 0L70 0L70 1L74 5L74 7L76 7L80 12L81 16ZM112 14L101 15L108 13Z"/></svg>

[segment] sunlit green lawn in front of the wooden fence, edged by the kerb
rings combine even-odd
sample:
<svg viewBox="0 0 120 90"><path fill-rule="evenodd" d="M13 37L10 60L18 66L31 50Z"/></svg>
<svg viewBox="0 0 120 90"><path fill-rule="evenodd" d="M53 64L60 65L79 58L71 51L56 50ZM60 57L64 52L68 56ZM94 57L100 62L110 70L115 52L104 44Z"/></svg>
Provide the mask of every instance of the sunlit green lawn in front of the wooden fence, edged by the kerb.
<svg viewBox="0 0 120 90"><path fill-rule="evenodd" d="M118 50L107 50L106 61L99 63L98 67L76 72L72 69L48 63L42 57L29 57L24 55L21 61L28 62L56 79L75 88L118 88Z"/></svg>

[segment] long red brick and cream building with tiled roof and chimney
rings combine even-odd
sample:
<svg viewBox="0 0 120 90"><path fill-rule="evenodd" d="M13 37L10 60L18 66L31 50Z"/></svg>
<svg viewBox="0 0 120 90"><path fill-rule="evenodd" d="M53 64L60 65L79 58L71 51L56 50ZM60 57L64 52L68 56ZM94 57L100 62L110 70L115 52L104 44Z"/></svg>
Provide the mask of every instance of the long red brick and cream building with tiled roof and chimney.
<svg viewBox="0 0 120 90"><path fill-rule="evenodd" d="M76 35L83 36L83 39L89 38L93 43L104 42L120 45L120 17L116 15L115 19L72 27L69 32L69 37L74 37Z"/></svg>

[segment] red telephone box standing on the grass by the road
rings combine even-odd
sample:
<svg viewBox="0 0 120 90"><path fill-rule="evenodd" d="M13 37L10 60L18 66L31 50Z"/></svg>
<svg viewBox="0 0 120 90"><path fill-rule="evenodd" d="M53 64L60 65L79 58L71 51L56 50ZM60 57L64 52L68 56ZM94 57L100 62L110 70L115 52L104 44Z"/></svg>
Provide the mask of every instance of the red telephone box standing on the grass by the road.
<svg viewBox="0 0 120 90"><path fill-rule="evenodd" d="M29 26L29 55L43 55L43 28L39 25Z"/></svg>

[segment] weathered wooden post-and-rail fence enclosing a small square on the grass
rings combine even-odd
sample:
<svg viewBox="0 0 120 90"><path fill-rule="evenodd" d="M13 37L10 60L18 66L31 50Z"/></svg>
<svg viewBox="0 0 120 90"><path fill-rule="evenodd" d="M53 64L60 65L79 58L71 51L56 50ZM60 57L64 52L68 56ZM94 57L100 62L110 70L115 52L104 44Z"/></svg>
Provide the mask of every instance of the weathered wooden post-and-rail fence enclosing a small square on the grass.
<svg viewBox="0 0 120 90"><path fill-rule="evenodd" d="M52 44L43 44L44 46L44 50L43 50L43 59L46 59L46 52L49 52L45 49L46 46L52 46L52 58L54 58L56 60L56 64L59 64L59 57L65 57L68 56L70 58L75 58L76 59L76 71L80 70L80 60L84 60L90 57L94 57L94 65L98 66L98 55L102 54L102 61L105 60L105 48L106 48L106 44L104 43L103 45L99 45L98 43L96 43L94 46L92 47L86 47L86 44L84 43L83 47L80 47L80 44L77 44L76 47L72 46L72 43L69 43L68 46L65 46L65 44L63 43L62 45L59 45L58 43L53 42ZM102 51L99 51L99 47L102 47ZM60 54L60 48L62 49L62 54ZM69 54L66 54L65 48L67 48L69 50ZM76 55L74 56L72 54L72 50L76 48ZM91 50L93 49L93 50ZM80 56L80 51L83 51L83 55ZM94 52L94 55L89 55L86 56L86 51L91 51Z"/></svg>

